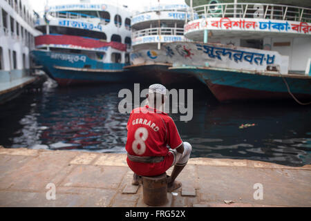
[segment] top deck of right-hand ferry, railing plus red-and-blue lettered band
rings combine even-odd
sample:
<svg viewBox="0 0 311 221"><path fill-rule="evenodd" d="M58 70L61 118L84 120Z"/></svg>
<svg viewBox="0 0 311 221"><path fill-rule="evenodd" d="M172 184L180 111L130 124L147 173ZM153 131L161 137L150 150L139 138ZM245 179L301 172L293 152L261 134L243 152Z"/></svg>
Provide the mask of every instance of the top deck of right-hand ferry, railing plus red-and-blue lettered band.
<svg viewBox="0 0 311 221"><path fill-rule="evenodd" d="M202 41L205 30L218 37L308 37L311 35L310 1L196 1L187 0L185 36Z"/></svg>

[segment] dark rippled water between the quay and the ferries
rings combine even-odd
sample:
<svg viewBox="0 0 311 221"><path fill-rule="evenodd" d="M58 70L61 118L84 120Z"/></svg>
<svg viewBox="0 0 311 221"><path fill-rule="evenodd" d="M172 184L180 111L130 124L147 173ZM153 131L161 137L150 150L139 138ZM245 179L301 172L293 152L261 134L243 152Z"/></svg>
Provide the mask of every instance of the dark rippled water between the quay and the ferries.
<svg viewBox="0 0 311 221"><path fill-rule="evenodd" d="M148 86L141 86L141 90ZM118 111L123 88L106 84L44 88L0 106L0 144L125 153L128 114ZM191 157L261 160L288 166L311 163L311 107L289 102L218 104L205 86L194 88L194 117L171 115ZM171 88L168 88L171 89ZM242 124L255 124L239 128Z"/></svg>

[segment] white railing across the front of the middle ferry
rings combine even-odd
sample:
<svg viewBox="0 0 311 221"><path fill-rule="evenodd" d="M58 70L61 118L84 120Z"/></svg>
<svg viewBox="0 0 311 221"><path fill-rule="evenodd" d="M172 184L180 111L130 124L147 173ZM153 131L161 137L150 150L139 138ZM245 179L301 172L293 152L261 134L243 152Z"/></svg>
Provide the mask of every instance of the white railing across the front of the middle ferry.
<svg viewBox="0 0 311 221"><path fill-rule="evenodd" d="M184 35L184 28L147 28L133 32L132 38L149 35Z"/></svg>

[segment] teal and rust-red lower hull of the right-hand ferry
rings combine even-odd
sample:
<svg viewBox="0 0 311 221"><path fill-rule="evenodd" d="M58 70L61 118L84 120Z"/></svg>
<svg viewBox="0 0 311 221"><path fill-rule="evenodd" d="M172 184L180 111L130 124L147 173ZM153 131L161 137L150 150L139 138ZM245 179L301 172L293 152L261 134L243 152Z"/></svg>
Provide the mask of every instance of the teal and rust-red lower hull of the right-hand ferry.
<svg viewBox="0 0 311 221"><path fill-rule="evenodd" d="M183 68L183 71L202 79L219 102L293 99L292 95L301 102L311 102L310 76L224 68Z"/></svg>

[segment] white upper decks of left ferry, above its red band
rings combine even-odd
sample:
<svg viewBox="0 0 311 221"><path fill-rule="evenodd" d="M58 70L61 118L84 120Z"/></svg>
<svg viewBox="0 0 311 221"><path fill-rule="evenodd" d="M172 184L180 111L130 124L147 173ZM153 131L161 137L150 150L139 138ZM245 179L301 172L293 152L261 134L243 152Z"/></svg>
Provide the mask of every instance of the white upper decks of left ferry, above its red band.
<svg viewBox="0 0 311 221"><path fill-rule="evenodd" d="M35 28L44 34L75 35L107 41L131 38L131 12L107 4L48 6Z"/></svg>

